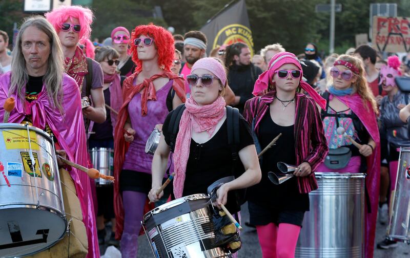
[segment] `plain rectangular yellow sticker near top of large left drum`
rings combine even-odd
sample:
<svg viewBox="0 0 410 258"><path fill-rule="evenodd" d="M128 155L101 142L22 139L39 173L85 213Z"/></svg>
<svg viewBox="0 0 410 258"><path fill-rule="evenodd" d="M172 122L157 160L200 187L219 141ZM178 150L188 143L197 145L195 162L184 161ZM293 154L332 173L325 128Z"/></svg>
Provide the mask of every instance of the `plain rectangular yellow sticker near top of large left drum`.
<svg viewBox="0 0 410 258"><path fill-rule="evenodd" d="M27 130L8 130L3 131L4 143L7 149L28 149L30 148ZM39 150L37 137L34 131L30 131L31 149Z"/></svg>

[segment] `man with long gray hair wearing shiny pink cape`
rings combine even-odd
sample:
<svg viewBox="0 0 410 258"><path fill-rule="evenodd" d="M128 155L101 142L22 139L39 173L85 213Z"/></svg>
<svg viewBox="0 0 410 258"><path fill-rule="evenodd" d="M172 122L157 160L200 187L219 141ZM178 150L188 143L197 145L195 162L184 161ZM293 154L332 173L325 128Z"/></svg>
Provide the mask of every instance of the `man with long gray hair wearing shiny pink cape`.
<svg viewBox="0 0 410 258"><path fill-rule="evenodd" d="M64 73L63 60L53 26L42 16L27 18L16 38L11 71L0 76L0 119L3 121L5 116L6 99L13 97L15 107L9 122L29 122L47 131L54 135L57 150L65 150L69 160L86 166L80 91L76 81ZM75 168L70 175L79 197L84 232L87 231L88 257L99 257L90 180L86 173ZM84 239L84 235L80 238ZM72 236L71 245L73 242Z"/></svg>

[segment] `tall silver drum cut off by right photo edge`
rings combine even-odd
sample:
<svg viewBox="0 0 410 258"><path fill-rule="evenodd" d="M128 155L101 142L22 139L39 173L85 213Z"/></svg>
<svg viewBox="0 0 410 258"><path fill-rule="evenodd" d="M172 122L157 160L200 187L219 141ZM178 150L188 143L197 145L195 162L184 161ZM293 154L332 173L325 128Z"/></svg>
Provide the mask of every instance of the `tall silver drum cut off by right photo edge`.
<svg viewBox="0 0 410 258"><path fill-rule="evenodd" d="M387 238L410 244L410 148L400 148Z"/></svg>

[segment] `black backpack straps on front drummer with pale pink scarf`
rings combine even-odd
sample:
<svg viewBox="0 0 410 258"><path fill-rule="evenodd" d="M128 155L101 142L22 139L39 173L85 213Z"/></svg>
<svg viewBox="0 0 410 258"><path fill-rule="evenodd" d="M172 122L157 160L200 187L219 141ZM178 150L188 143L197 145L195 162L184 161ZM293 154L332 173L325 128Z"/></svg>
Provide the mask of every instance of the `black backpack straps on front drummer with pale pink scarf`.
<svg viewBox="0 0 410 258"><path fill-rule="evenodd" d="M179 131L179 122L182 117L183 111L185 111L185 104L179 105L171 115L170 123L168 126L168 134L170 136L170 148L171 152L174 152L176 137ZM238 178L243 174L244 168L239 159L238 146L240 140L239 134L239 110L232 106L227 106L227 127L228 127L228 145L231 148L232 157L232 175ZM236 205L240 208L244 202L246 202L246 189L233 190L236 195Z"/></svg>

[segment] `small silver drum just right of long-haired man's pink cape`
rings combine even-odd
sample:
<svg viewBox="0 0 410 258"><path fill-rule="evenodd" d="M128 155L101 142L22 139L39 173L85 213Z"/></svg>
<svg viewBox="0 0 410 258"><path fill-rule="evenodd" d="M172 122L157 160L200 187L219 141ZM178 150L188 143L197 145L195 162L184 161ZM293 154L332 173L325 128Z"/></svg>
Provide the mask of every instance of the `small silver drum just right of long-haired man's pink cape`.
<svg viewBox="0 0 410 258"><path fill-rule="evenodd" d="M114 150L111 148L92 148L91 159L93 167L105 176L114 176ZM111 185L111 180L97 178L97 186Z"/></svg>

